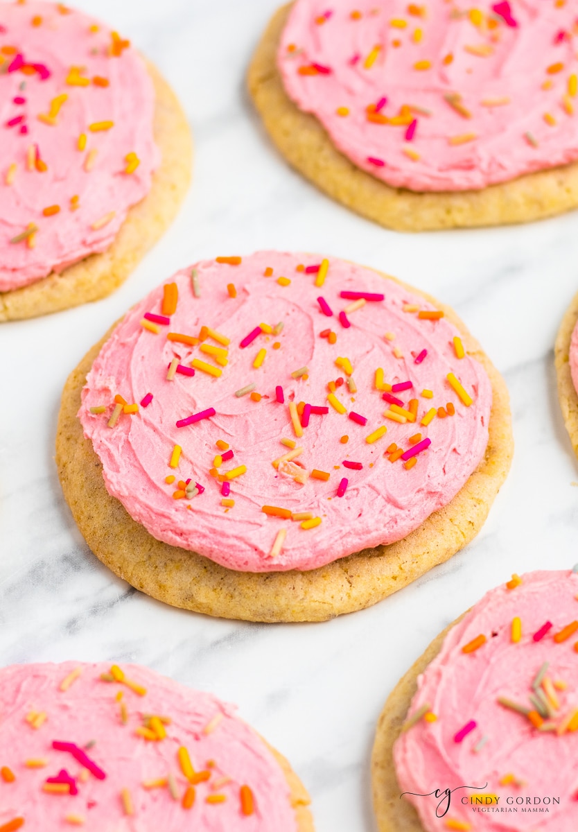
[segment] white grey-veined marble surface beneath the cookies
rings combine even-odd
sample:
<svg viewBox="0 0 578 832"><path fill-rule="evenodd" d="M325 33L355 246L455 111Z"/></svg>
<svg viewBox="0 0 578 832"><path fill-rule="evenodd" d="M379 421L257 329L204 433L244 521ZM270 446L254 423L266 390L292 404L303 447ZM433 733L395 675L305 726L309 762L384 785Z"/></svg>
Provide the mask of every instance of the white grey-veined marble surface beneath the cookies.
<svg viewBox="0 0 578 832"><path fill-rule="evenodd" d="M383 230L291 171L259 126L245 69L277 0L77 5L131 37L173 84L195 132L195 177L175 225L115 295L0 326L0 665L137 661L210 689L289 756L319 832L370 832L373 728L399 676L511 572L578 560L578 473L552 349L578 290L578 215L498 230ZM86 547L53 461L62 385L109 324L183 265L267 247L331 252L437 295L511 394L514 463L482 533L397 595L324 624L211 620L132 590Z"/></svg>

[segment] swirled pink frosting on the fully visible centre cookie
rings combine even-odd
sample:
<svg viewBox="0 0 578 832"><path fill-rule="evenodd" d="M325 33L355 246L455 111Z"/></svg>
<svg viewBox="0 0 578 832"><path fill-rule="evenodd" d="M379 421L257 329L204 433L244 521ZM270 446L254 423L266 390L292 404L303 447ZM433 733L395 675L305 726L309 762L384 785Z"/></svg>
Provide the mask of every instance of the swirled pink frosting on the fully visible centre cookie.
<svg viewBox="0 0 578 832"><path fill-rule="evenodd" d="M109 493L159 540L241 571L313 569L364 547L405 537L446 505L477 468L487 446L492 388L476 360L456 358L452 339L457 329L446 319L419 319L415 311L404 312L404 305L414 304L420 310L432 306L373 270L329 258L329 273L321 288L315 285L316 275L296 270L298 265L319 265L321 260L319 255L265 251L244 257L236 266L202 261L195 266L200 297L191 289L190 270L172 279L179 287L179 302L169 326L153 334L140 323L147 312L161 313L161 286L126 315L96 357L82 391L79 418L101 458ZM274 270L272 277L264 277L267 268ZM279 285L277 279L282 277L291 280L290 285ZM231 282L235 298L226 289ZM353 301L340 293L356 290L384 293L385 300L368 301L351 312L346 329L338 313ZM319 296L333 312L331 318L321 311ZM240 348L259 324L278 322L284 324L278 336L258 329L260 334L249 346ZM169 330L197 336L203 325L230 338L228 364L221 368L221 377L197 369L194 378L177 373L168 381L167 368L175 357L185 368L191 359L215 364L200 346L166 337ZM337 335L335 344L320 337L327 329ZM220 346L211 338L205 343ZM279 349L274 349L275 343ZM254 359L263 348L266 358L255 369ZM427 355L416 363L423 349ZM329 381L346 378L335 363L340 358L351 362L357 387L354 394L347 384L336 391L346 414L339 414L328 402ZM307 378L294 379L292 373L304 367L309 370ZM416 423L383 417L390 405L375 386L378 368L389 384L411 381L413 388L394 390L393 395L406 405L417 398ZM470 407L448 384L450 372L472 395ZM256 385L255 392L263 397L259 402L249 394L235 396L248 384ZM284 404L276 399L278 386ZM431 389L433 399L422 397L423 389ZM153 394L151 404L137 414L121 414L114 428L107 426L116 394L138 404L147 393ZM289 414L292 401L326 407L329 413L310 414L309 426L298 438ZM447 403L454 405L454 416L434 418L427 427L419 423L432 407ZM91 414L90 409L99 406L106 406L106 412ZM214 416L176 426L177 421L210 408L215 409ZM367 423L348 418L351 412ZM368 443L366 438L383 425L387 434ZM422 442L431 441L427 450L417 454L417 464L409 470L403 460L391 463L386 448L397 443L411 449L408 439L416 433L422 433ZM339 441L343 435L349 437L347 444ZM280 442L282 438L294 440L304 450L294 463L274 468L273 461L290 450ZM235 506L229 509L221 505L220 481L210 475L220 453L215 446L218 440L230 444L235 454L223 462L219 473L240 465L247 469L230 481ZM173 469L169 461L175 444L182 453L178 468ZM363 468L348 468L345 461L361 463ZM307 478L314 469L330 474L329 480L295 480L295 475ZM176 482L165 483L171 474ZM343 478L348 479L348 488L339 498ZM188 479L205 491L192 499L174 499L178 481ZM269 517L261 511L263 506L310 512L322 522L303 529L299 522ZM282 528L287 532L284 547L277 557L270 557Z"/></svg>

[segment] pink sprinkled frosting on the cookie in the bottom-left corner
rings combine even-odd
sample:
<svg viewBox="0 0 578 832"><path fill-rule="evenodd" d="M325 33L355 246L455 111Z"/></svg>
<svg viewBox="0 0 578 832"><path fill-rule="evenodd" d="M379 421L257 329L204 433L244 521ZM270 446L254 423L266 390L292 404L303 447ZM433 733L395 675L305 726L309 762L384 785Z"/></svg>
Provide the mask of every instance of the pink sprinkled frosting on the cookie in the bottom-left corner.
<svg viewBox="0 0 578 832"><path fill-rule="evenodd" d="M279 764L254 730L235 717L233 706L146 668L123 666L129 681L144 686L146 695L140 696L124 684L101 681L110 667L67 662L0 671L0 768L15 776L12 782L0 777L0 826L22 818L25 830L56 832L72 824L65 823L72 815L84 820L86 832L297 832ZM62 691L62 681L77 668L80 676ZM28 721L32 714L41 715L37 728ZM165 739L136 734L150 716L169 717ZM77 745L96 765L96 774L70 751L54 749L54 741ZM182 805L190 785L179 762L183 746L195 772L210 775L196 783L190 810ZM45 765L28 767L27 760ZM43 790L62 770L75 780L71 792L77 794ZM175 779L175 797L168 785L143 785L169 775ZM242 785L253 795L251 815L241 809ZM128 791L134 814L126 813L122 790ZM225 795L225 801L207 803L210 795Z"/></svg>

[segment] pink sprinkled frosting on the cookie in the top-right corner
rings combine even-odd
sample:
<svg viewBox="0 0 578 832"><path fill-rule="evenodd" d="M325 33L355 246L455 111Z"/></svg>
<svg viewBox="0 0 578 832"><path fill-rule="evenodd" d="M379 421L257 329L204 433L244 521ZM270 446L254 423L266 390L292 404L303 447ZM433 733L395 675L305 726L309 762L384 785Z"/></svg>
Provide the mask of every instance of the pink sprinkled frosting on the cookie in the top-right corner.
<svg viewBox="0 0 578 832"><path fill-rule="evenodd" d="M278 61L289 97L355 165L462 191L578 158L576 32L571 2L296 0ZM402 123L368 121L370 105Z"/></svg>

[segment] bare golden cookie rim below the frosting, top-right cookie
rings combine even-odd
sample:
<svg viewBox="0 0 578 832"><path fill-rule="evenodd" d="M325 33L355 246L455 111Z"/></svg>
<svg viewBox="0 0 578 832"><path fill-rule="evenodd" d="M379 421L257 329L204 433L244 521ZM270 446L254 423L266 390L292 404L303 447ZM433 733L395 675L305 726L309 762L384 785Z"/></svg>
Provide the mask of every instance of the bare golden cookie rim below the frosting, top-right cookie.
<svg viewBox="0 0 578 832"><path fill-rule="evenodd" d="M355 166L333 145L320 121L299 110L284 90L277 52L290 8L279 8L259 42L249 67L249 92L279 151L333 199L380 225L405 231L527 222L578 206L577 162L480 191L438 192L390 187Z"/></svg>

